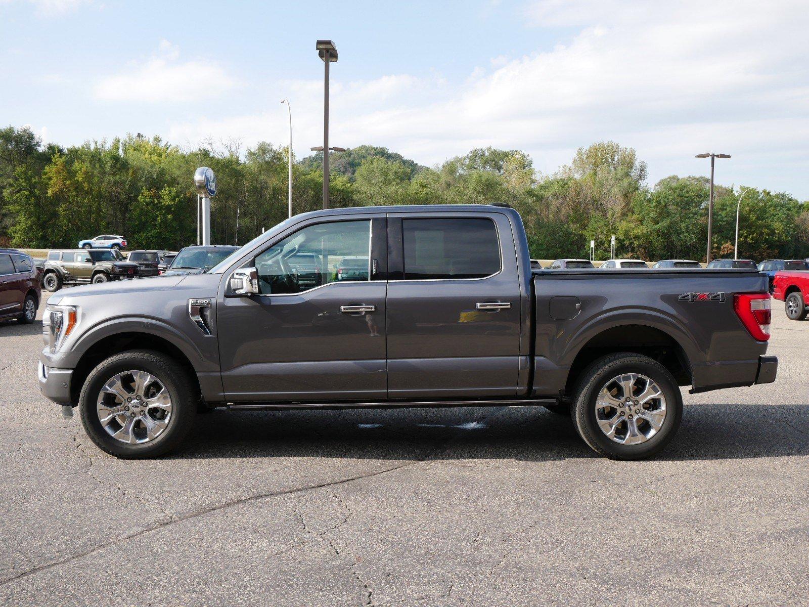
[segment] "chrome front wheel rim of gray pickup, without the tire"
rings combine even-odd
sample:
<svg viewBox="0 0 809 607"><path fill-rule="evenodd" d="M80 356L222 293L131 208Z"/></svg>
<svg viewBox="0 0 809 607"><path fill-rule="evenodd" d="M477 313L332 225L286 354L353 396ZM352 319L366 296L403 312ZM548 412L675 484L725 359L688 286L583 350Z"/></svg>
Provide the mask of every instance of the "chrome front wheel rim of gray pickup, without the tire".
<svg viewBox="0 0 809 607"><path fill-rule="evenodd" d="M101 388L96 410L104 430L122 443L155 440L172 421L168 390L146 371L112 376Z"/></svg>

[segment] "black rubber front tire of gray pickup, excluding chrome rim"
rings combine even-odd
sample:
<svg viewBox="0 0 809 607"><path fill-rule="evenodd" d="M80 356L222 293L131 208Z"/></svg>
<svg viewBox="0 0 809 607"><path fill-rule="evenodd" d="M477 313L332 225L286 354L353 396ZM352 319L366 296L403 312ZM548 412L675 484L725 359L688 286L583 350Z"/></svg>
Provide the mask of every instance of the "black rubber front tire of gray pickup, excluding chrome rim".
<svg viewBox="0 0 809 607"><path fill-rule="evenodd" d="M146 443L127 444L112 438L96 412L101 388L112 376L125 371L150 373L163 384L172 399L172 417L166 429ZM197 394L192 378L167 355L153 350L128 350L110 356L91 371L78 398L78 408L84 431L98 448L121 459L143 459L162 456L188 435L197 416Z"/></svg>

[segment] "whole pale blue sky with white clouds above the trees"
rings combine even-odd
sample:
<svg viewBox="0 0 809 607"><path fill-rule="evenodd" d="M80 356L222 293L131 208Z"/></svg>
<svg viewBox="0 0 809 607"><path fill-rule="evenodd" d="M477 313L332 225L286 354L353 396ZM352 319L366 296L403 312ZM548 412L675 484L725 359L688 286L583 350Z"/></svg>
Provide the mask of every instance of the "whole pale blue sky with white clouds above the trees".
<svg viewBox="0 0 809 607"><path fill-rule="evenodd" d="M127 133L385 146L433 166L519 149L552 174L579 146L809 201L809 2L0 0L0 125L46 142Z"/></svg>

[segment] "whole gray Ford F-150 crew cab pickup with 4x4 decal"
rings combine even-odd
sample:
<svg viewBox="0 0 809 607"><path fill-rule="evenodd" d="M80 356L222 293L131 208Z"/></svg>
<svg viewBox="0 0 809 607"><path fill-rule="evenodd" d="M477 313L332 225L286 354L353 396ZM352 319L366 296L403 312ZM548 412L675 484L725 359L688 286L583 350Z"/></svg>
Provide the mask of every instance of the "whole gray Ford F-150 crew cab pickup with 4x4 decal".
<svg viewBox="0 0 809 607"><path fill-rule="evenodd" d="M693 393L764 384L752 270L534 270L497 206L334 209L204 274L53 295L40 388L119 457L175 448L198 412L544 405L605 456L659 452Z"/></svg>

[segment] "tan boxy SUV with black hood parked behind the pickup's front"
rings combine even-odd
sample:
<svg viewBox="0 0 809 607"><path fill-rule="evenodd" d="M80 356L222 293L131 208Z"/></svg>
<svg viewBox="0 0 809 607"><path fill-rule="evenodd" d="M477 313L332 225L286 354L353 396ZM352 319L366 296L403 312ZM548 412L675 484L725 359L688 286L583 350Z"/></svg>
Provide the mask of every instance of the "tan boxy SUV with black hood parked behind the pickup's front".
<svg viewBox="0 0 809 607"><path fill-rule="evenodd" d="M99 283L121 278L138 278L140 266L131 261L118 261L115 253L105 248L69 248L48 253L42 285L54 293L66 285Z"/></svg>

